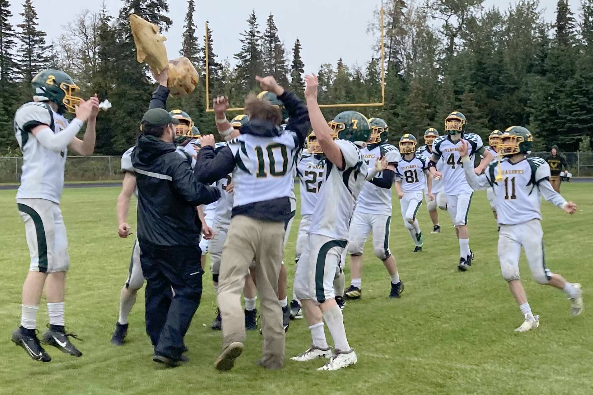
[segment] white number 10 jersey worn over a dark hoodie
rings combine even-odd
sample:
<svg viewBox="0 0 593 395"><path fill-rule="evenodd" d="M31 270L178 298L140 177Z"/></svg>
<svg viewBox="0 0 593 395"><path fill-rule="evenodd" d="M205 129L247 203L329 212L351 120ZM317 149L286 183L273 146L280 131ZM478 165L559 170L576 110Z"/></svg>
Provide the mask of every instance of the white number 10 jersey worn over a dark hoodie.
<svg viewBox="0 0 593 395"><path fill-rule="evenodd" d="M240 135L228 142L235 156L233 207L290 198L299 140L285 130L279 136Z"/></svg>

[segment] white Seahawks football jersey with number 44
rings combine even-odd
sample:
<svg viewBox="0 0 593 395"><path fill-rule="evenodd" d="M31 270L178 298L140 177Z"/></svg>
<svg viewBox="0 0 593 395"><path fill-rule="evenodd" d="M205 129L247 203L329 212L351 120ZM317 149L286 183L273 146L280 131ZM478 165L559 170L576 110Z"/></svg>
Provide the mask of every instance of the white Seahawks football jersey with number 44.
<svg viewBox="0 0 593 395"><path fill-rule="evenodd" d="M469 164L473 166L474 156L483 146L482 138L476 133L464 133L463 140L469 144ZM466 181L461 156L457 151L460 144L461 140L454 142L449 136L438 136L432 142L432 152L439 157L439 160L444 161L443 168L439 171L442 173L443 190L447 196L473 192Z"/></svg>

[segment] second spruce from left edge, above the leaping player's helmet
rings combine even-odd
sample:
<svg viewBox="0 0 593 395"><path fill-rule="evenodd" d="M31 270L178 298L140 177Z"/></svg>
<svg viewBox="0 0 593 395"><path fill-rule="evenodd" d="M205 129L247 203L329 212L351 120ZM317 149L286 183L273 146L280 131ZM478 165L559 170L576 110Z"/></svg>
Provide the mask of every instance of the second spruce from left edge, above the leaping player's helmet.
<svg viewBox="0 0 593 395"><path fill-rule="evenodd" d="M17 37L20 41L17 62L24 82L30 82L35 75L49 66L50 46L45 42L46 34L39 30L37 11L31 0L25 0L23 23L18 24Z"/></svg>

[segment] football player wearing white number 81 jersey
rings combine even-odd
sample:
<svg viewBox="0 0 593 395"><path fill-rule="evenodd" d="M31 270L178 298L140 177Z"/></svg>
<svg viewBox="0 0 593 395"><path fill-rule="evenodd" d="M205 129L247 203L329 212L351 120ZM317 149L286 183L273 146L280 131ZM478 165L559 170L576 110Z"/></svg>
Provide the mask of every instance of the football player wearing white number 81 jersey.
<svg viewBox="0 0 593 395"><path fill-rule="evenodd" d="M416 219L416 213L422 205L422 191L426 185L428 199L435 200L432 195L431 177L428 171L428 160L423 155L416 155L416 137L410 133L401 136L400 152L403 154L401 160L396 164L396 189L400 198L401 218L412 242L415 244L415 253L422 251L424 237L420 231L420 224ZM403 288L403 287L402 287Z"/></svg>

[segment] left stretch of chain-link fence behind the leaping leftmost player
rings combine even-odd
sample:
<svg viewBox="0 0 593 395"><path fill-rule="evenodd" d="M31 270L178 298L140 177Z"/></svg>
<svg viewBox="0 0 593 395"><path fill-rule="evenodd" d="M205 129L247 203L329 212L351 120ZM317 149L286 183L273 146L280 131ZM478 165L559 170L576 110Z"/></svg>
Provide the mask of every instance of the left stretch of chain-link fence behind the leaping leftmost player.
<svg viewBox="0 0 593 395"><path fill-rule="evenodd" d="M65 181L122 180L122 157L68 157L64 169ZM23 158L0 158L0 183L21 180Z"/></svg>

